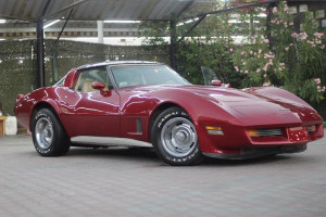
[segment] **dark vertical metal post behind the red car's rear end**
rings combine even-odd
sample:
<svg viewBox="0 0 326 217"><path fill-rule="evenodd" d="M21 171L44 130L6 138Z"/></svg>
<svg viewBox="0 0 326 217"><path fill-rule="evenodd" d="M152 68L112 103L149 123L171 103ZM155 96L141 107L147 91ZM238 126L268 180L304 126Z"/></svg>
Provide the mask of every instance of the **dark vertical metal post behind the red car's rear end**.
<svg viewBox="0 0 326 217"><path fill-rule="evenodd" d="M43 36L43 21L38 20L36 24L36 49L37 49L37 74L38 74L38 88L42 88L46 86L45 79L45 36Z"/></svg>

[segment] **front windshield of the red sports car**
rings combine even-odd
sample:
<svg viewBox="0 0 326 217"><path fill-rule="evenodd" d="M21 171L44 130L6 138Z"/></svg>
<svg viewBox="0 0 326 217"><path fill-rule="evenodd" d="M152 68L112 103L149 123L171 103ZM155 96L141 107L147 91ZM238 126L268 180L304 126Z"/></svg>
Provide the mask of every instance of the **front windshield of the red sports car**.
<svg viewBox="0 0 326 217"><path fill-rule="evenodd" d="M111 67L118 88L142 85L190 85L166 65L124 65Z"/></svg>

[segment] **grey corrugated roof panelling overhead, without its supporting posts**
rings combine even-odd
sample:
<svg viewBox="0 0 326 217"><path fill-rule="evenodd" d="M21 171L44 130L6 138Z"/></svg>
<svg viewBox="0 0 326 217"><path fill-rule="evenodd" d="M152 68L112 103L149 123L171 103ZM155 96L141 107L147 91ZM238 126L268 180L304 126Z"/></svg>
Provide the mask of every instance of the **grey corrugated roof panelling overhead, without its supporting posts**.
<svg viewBox="0 0 326 217"><path fill-rule="evenodd" d="M171 18L172 14L178 14L191 0L50 0L49 2L45 16L51 20L66 16L71 8L60 13L55 12L72 4L76 4L72 20L166 20ZM0 0L0 17L2 15L35 21L39 18L47 3L48 0Z"/></svg>

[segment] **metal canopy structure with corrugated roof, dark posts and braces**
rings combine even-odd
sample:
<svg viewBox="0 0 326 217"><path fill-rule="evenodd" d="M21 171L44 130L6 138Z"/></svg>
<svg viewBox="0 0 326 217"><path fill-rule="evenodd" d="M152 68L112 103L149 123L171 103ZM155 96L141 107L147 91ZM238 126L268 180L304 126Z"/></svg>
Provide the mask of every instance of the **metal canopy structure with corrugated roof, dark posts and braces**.
<svg viewBox="0 0 326 217"><path fill-rule="evenodd" d="M198 17L189 30L176 38L176 18L178 18L195 1L212 2L214 0L1 0L0 18L28 21L36 23L37 33L37 73L38 86L45 87L45 47L43 24L47 20L65 20L58 37L64 30L68 20L77 21L166 21L171 27L171 66L176 67L175 44L183 40L209 14L220 14L247 7L273 4L280 0L247 3L239 7L197 14L187 18Z"/></svg>

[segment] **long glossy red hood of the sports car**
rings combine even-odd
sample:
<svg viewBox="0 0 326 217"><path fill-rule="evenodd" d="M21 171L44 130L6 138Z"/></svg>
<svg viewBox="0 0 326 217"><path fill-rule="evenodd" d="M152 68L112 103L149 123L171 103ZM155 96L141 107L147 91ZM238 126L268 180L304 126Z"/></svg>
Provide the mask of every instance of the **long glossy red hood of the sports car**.
<svg viewBox="0 0 326 217"><path fill-rule="evenodd" d="M199 95L239 120L240 125L309 125L321 123L319 114L301 99L261 94L255 91L205 86L156 86L152 90L179 90ZM151 88L148 87L147 90ZM275 88L276 89L276 88ZM281 90L285 92L285 90ZM287 94L291 94L287 92ZM292 94L291 94L292 95Z"/></svg>

